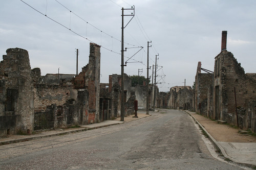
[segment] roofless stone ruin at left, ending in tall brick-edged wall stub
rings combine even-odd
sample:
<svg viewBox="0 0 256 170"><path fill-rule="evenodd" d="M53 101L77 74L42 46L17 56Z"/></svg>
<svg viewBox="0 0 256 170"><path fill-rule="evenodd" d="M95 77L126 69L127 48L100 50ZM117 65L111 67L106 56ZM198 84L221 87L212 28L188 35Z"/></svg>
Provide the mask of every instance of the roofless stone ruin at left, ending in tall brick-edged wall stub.
<svg viewBox="0 0 256 170"><path fill-rule="evenodd" d="M79 75L31 70L26 50L10 48L0 63L0 136L100 122L100 46L90 43Z"/></svg>

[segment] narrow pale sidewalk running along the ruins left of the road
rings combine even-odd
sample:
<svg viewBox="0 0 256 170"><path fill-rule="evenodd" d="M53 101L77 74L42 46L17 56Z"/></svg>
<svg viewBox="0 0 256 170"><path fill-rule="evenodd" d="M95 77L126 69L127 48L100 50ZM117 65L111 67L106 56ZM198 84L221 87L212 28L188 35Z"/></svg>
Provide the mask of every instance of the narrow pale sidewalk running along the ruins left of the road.
<svg viewBox="0 0 256 170"><path fill-rule="evenodd" d="M112 125L123 124L126 122L131 122L133 120L141 119L147 116L143 111L138 112L138 118L133 117L134 115L124 117L124 122L120 121L120 117L116 118L115 120L105 120L104 122L97 123L97 124L90 124L90 125L83 125L78 128L68 128L68 129L54 129L54 130L46 130L46 131L37 131L32 135L8 135L5 138L0 138L0 146L4 144L11 144L11 143L18 143L18 142L25 142L30 140L38 140L43 138L48 138L52 136L59 136L59 135L66 135L70 133L77 133L97 128L103 128Z"/></svg>

